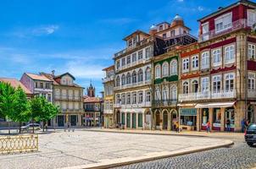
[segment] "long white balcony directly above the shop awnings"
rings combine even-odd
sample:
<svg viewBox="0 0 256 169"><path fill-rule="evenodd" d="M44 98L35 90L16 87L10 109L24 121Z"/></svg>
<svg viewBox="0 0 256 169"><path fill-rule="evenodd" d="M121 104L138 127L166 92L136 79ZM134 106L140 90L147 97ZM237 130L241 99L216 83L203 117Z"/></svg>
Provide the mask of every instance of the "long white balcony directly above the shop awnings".
<svg viewBox="0 0 256 169"><path fill-rule="evenodd" d="M198 101L209 99L230 99L236 97L235 90L203 91L179 95L179 101Z"/></svg>

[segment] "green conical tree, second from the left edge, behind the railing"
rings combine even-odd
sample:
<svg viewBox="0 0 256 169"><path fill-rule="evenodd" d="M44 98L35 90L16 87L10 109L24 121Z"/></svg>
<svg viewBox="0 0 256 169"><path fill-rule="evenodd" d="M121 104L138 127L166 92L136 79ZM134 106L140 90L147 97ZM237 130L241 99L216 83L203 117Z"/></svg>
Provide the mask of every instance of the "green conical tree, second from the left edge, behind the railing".
<svg viewBox="0 0 256 169"><path fill-rule="evenodd" d="M20 133L21 124L23 122L28 122L31 119L29 114L29 104L28 104L25 92L24 90L21 89L20 86L17 88L17 90L15 90L14 95L15 95L14 97L15 111L10 118L14 122L19 122L19 133Z"/></svg>

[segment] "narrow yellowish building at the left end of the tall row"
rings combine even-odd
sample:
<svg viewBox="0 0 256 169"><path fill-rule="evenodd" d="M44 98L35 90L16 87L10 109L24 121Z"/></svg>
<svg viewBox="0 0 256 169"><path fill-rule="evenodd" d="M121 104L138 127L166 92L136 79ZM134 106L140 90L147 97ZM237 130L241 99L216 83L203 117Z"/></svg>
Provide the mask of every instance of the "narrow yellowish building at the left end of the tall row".
<svg viewBox="0 0 256 169"><path fill-rule="evenodd" d="M114 128L114 65L109 68L104 68L105 78L103 79L104 86L104 128Z"/></svg>

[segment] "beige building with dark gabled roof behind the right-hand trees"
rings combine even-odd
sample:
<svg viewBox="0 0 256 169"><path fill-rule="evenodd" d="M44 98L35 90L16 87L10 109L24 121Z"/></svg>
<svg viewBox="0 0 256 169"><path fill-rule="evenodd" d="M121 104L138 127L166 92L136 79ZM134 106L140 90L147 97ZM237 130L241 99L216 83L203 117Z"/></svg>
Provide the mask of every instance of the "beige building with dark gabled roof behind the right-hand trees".
<svg viewBox="0 0 256 169"><path fill-rule="evenodd" d="M48 122L51 127L81 127L85 121L83 110L83 88L75 84L75 77L66 73L42 76L53 81L53 104L59 106L60 114Z"/></svg>

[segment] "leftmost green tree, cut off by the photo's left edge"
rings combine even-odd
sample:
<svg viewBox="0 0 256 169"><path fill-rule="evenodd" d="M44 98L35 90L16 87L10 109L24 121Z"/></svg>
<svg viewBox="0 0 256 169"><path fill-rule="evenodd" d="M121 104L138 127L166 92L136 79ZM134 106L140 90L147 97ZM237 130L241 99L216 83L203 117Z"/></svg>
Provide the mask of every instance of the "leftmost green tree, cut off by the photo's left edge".
<svg viewBox="0 0 256 169"><path fill-rule="evenodd" d="M15 89L10 84L0 83L0 114L8 118L8 134L10 134L9 119L15 112Z"/></svg>

